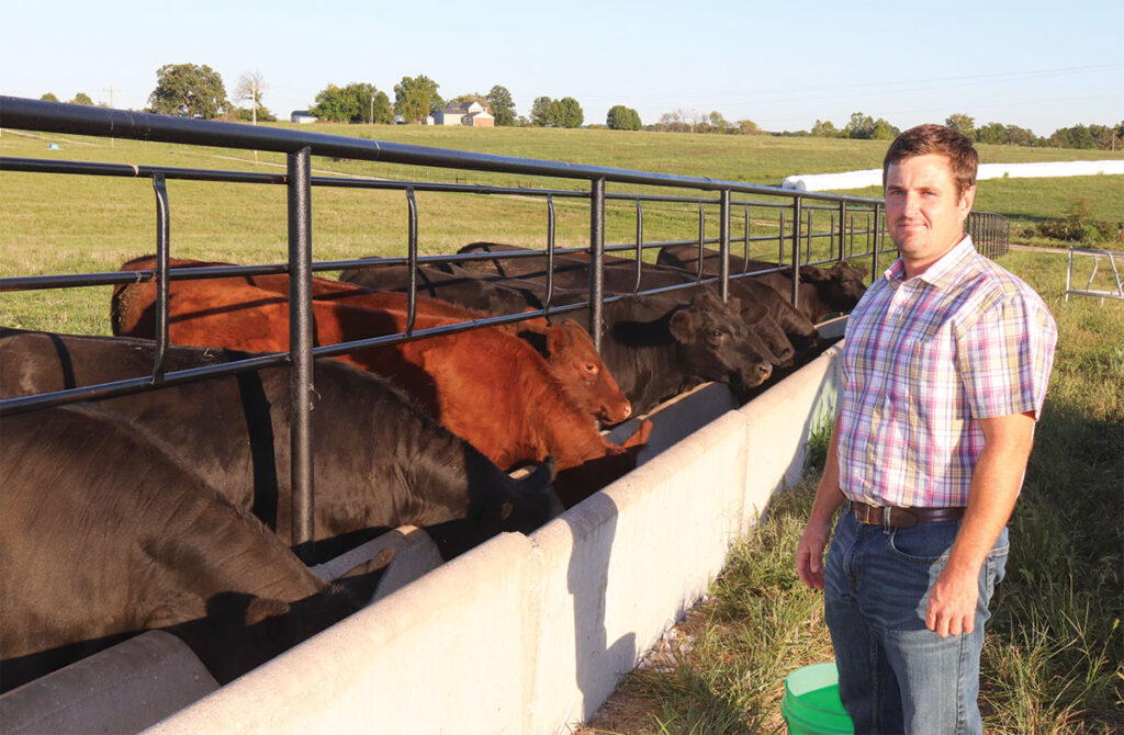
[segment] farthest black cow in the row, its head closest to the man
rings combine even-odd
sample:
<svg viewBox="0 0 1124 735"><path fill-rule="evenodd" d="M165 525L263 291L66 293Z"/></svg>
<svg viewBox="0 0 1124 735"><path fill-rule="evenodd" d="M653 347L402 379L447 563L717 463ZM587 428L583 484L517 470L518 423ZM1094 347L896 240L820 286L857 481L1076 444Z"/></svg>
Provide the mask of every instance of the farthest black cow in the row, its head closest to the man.
<svg viewBox="0 0 1124 735"><path fill-rule="evenodd" d="M711 249L705 251L703 256L703 272L716 274L719 265L718 257L717 252ZM656 263L670 267L683 269L689 273L697 273L699 267L699 251L694 245L665 245L660 248ZM743 273L778 267L778 264L754 260L745 261L736 255L731 255L729 267L734 273ZM846 314L851 311L867 291L867 287L863 283L867 273L865 269L853 267L843 260L826 269L817 265L801 265L798 305L800 311L815 324L818 324L828 314L836 311ZM777 290L778 293L791 302L791 266L752 278Z"/></svg>

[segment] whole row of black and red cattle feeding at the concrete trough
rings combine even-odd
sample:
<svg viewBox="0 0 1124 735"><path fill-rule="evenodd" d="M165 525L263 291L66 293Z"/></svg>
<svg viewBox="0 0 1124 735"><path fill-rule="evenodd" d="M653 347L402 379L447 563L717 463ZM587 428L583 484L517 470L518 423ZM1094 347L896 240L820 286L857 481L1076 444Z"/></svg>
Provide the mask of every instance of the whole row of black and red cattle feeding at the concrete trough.
<svg viewBox="0 0 1124 735"><path fill-rule="evenodd" d="M554 255L551 270L513 246L461 252L481 257L418 267L415 329L588 301L588 258ZM604 307L600 353L580 326L587 307L318 360L317 555L402 525L425 527L446 557L531 532L635 466L651 423L614 444L598 421L705 381L745 398L816 354L814 325L863 292L865 273L841 261L800 271L799 308L785 270L732 280L724 302L690 285L718 272L708 253L668 246L640 269L606 257L605 293L624 298ZM315 278L315 344L402 333L406 275ZM669 285L687 288L631 296ZM287 351L288 289L287 275L172 281L165 369ZM0 329L0 396L151 373L155 309L155 284L133 282L114 291L114 337ZM362 607L386 554L326 583L290 550L289 421L285 368L3 418L0 688L153 628L225 682Z"/></svg>

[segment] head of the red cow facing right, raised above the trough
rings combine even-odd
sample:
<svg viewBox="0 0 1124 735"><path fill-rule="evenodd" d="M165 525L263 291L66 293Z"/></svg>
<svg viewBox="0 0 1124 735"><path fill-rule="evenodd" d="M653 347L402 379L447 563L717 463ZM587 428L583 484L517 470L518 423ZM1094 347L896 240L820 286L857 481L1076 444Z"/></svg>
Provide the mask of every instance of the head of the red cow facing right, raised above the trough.
<svg viewBox="0 0 1124 735"><path fill-rule="evenodd" d="M632 403L580 324L566 319L551 325L546 352L551 370L579 409L608 424L619 424L632 415Z"/></svg>

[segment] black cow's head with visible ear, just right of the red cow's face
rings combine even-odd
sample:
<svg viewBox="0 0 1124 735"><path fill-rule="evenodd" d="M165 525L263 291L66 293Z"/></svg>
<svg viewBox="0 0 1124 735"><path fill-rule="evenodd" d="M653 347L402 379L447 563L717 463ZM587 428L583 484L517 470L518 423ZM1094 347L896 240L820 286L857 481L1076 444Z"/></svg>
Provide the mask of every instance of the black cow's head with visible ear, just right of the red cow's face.
<svg viewBox="0 0 1124 735"><path fill-rule="evenodd" d="M681 364L703 380L729 383L735 389L760 385L772 373L741 315L742 305L704 293L677 310L669 324Z"/></svg>

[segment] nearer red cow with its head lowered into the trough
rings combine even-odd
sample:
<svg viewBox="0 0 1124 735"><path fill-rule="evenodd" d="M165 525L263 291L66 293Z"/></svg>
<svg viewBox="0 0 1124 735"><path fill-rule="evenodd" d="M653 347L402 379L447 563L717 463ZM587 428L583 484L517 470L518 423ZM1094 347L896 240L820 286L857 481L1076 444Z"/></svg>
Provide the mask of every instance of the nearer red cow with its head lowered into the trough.
<svg viewBox="0 0 1124 735"><path fill-rule="evenodd" d="M389 309L314 301L312 311L317 345L398 334L406 325L405 312ZM176 344L251 352L289 348L288 299L273 291L179 281L169 297L169 335ZM415 326L439 321L418 317ZM610 444L588 414L570 402L542 355L500 329L370 347L337 360L390 378L500 468L547 455L558 460L559 470L607 456L634 457L629 450L642 446L652 428L645 421L623 445Z"/></svg>

